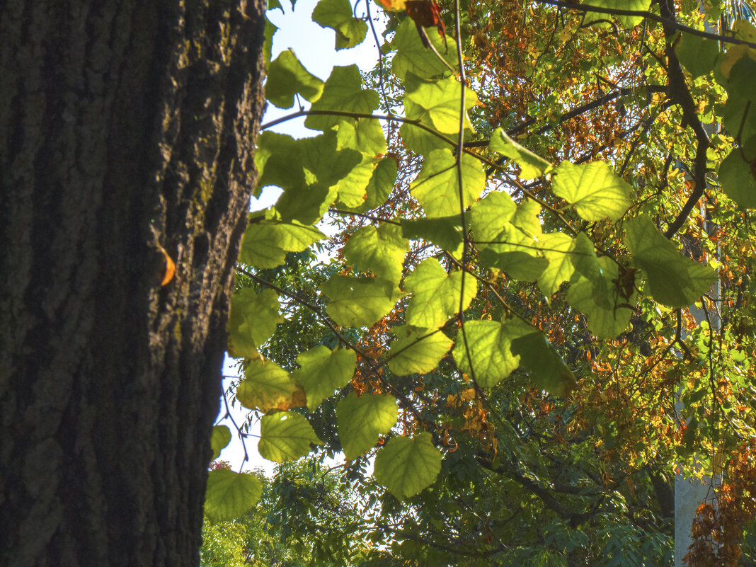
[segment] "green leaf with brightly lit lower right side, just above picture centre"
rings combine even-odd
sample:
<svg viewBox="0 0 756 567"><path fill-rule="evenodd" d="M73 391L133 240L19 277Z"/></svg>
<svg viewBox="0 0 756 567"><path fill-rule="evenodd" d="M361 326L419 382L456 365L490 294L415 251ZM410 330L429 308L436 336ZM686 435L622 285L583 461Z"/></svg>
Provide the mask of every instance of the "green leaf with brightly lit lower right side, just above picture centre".
<svg viewBox="0 0 756 567"><path fill-rule="evenodd" d="M360 271L371 271L383 280L399 283L409 242L401 227L384 223L380 228L359 228L343 249L344 258Z"/></svg>

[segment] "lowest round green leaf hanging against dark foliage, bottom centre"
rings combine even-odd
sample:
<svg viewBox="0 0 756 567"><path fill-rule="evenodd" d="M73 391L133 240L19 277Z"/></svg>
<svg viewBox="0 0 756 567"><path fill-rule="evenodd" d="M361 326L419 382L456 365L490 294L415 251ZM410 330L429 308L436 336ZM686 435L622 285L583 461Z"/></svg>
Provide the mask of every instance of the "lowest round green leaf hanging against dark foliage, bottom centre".
<svg viewBox="0 0 756 567"><path fill-rule="evenodd" d="M428 488L441 472L441 452L429 432L395 437L376 454L375 478L399 500Z"/></svg>

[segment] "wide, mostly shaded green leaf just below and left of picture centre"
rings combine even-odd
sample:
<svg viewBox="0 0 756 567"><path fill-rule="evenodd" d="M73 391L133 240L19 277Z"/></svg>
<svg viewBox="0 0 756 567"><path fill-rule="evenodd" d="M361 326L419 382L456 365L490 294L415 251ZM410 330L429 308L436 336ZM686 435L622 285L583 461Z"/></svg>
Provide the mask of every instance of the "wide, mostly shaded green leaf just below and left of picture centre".
<svg viewBox="0 0 756 567"><path fill-rule="evenodd" d="M377 277L332 276L321 291L331 298L327 313L342 327L370 327L400 297L395 283Z"/></svg>

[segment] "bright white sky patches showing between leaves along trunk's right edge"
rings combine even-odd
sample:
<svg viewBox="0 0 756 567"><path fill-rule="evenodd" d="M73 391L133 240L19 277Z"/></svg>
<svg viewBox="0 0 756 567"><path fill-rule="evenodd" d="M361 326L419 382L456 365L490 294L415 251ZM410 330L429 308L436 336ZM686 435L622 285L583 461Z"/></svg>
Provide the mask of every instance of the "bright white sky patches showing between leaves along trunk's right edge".
<svg viewBox="0 0 756 567"><path fill-rule="evenodd" d="M321 26L311 20L312 11L317 3L317 0L298 0L294 11L291 11L289 0L281 0L284 9L283 13L281 13L280 10L268 12L268 18L279 28L273 36L272 58L275 59L281 51L291 48L302 62L302 65L304 65L310 73L318 76L324 81L330 75L331 69L336 65L357 64L361 70L372 69L378 60L378 48L373 41L373 35L370 32L370 28L367 30L367 39L364 43L358 45L356 48L336 51L334 48L335 33L333 32L333 29L321 28ZM362 2L360 2L357 7L358 17L361 14L364 14L364 4ZM376 15L383 14L383 12L373 4L370 6L370 14L375 18ZM384 28L383 20L376 22L375 25L378 37L381 38L380 34L383 32ZM304 102L306 104L306 101ZM271 104L268 106L268 110L266 111L265 118L262 122L269 122L280 116L286 116L287 114L293 113L296 110L299 110L299 107L296 104L295 107L290 110L280 110ZM305 138L315 135L316 132L305 129L303 124L304 120L304 118L297 118L288 122L283 122L271 130L282 134L292 135L295 138ZM279 189L266 187L265 190L262 191L259 199L253 198L250 209L266 209L268 206L275 203L279 195ZM236 376L237 372L234 368L234 362L234 359L226 358L223 369L223 374L225 376ZM233 379L230 377L223 380L224 389L228 388L231 380ZM234 418L234 421L238 426L245 422L246 410L240 407L239 404L230 409L231 416ZM221 402L218 420L225 416L225 413L225 404ZM231 423L231 420L222 420L219 421L218 424L226 425L231 429L231 443L221 452L220 459L227 460L231 463L231 468L237 471L240 469L252 470L257 467L262 467L266 474L271 474L275 463L260 457L260 454L257 452L258 437L246 438L246 451L247 454L249 454L249 460L244 463L244 450L240 439L236 435L236 429ZM253 435L259 435L259 421L253 420L253 428L251 429L251 432Z"/></svg>

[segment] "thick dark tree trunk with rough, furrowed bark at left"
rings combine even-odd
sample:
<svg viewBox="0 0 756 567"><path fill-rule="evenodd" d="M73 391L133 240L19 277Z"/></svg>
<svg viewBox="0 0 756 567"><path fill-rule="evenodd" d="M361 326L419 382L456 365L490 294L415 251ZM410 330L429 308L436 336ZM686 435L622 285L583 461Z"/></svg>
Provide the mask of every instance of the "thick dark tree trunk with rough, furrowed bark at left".
<svg viewBox="0 0 756 567"><path fill-rule="evenodd" d="M199 560L264 9L0 2L0 565Z"/></svg>

